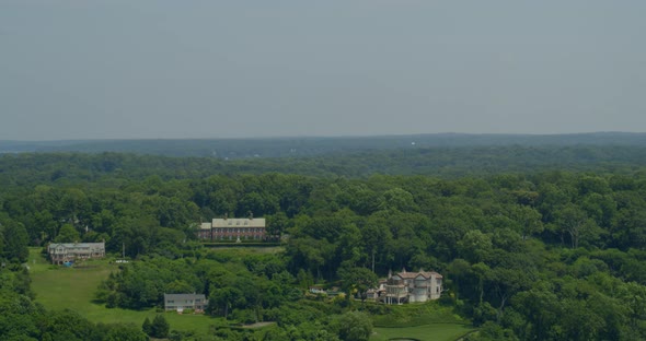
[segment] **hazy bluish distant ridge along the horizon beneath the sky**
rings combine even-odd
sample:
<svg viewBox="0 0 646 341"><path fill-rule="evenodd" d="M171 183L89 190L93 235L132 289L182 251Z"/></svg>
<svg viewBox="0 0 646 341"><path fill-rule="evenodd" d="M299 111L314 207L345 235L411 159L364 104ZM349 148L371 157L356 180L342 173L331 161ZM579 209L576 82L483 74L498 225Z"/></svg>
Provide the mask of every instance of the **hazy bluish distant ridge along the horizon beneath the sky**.
<svg viewBox="0 0 646 341"><path fill-rule="evenodd" d="M222 160L301 157L332 153L460 146L646 146L646 133L595 132L575 134L436 133L382 137L273 138L212 140L78 140L0 141L0 153L119 152L165 156L209 156Z"/></svg>

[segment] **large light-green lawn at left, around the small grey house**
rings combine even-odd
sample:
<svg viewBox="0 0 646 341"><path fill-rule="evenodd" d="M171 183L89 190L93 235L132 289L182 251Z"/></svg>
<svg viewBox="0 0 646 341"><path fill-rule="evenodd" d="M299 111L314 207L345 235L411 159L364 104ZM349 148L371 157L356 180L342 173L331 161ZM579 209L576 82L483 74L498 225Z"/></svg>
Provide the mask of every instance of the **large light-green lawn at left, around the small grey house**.
<svg viewBox="0 0 646 341"><path fill-rule="evenodd" d="M116 324L126 322L140 326L146 317L151 320L158 314L153 308L147 310L127 310L112 308L93 303L94 293L101 281L111 272L118 271L117 264L106 260L86 261L78 268L65 268L49 264L39 248L31 249L30 272L32 289L36 293L36 302L47 309L71 309L92 322ZM171 324L171 329L193 331L196 334L207 334L210 326L221 325L222 319L206 315L178 315L164 313Z"/></svg>

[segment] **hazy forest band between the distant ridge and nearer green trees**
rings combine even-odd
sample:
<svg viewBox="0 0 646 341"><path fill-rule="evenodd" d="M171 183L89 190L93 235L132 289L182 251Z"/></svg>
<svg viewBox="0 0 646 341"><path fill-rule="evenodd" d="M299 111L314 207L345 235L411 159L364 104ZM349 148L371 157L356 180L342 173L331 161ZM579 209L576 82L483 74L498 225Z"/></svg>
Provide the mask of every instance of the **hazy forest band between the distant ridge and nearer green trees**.
<svg viewBox="0 0 646 341"><path fill-rule="evenodd" d="M537 174L553 169L632 174L646 165L642 145L491 145L397 148L318 156L169 157L119 153L0 154L3 188L38 184L96 184L103 180L205 178L214 174L298 174L325 178L371 175L483 177L500 173Z"/></svg>

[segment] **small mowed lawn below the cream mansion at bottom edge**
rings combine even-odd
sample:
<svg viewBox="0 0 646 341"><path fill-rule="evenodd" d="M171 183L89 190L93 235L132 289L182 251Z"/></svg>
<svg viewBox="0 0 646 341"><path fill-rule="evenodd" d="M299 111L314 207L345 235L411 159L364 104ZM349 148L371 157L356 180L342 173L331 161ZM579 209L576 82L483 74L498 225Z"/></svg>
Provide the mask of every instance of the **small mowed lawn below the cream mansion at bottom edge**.
<svg viewBox="0 0 646 341"><path fill-rule="evenodd" d="M372 329L370 341L385 341L392 339L413 339L420 341L455 341L461 337L474 331L468 325L458 324L431 324L404 328L381 328Z"/></svg>

